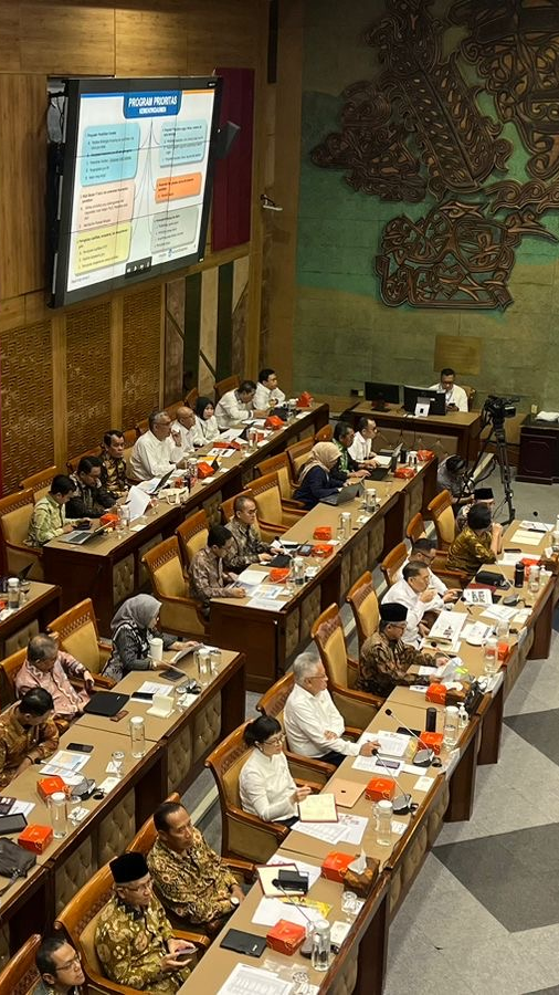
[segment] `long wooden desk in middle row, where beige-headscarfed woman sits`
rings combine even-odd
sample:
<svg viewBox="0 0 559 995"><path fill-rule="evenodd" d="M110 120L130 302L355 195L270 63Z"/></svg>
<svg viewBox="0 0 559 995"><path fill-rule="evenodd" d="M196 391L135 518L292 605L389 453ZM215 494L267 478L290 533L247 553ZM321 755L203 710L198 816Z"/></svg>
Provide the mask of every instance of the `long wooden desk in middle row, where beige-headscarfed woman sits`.
<svg viewBox="0 0 559 995"><path fill-rule="evenodd" d="M211 603L210 630L212 639L229 649L242 649L246 656L246 687L264 691L284 672L286 666L308 641L310 628L320 611L340 604L355 580L372 569L388 548L401 542L410 517L423 503L423 489L436 473L436 460L424 463L409 481L387 478L370 481L380 498L380 507L366 515L362 501L356 499L334 507L318 504L302 517L285 538L312 542L319 525L329 525L336 536L340 512L351 514L351 536L334 547L326 559L306 558L306 565L317 574L297 591L286 589L285 596L271 603L270 609L253 608L247 598L215 598ZM366 521L359 519L366 517ZM267 572L261 568L263 577Z"/></svg>

